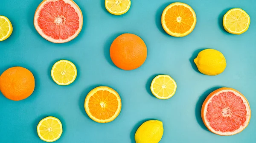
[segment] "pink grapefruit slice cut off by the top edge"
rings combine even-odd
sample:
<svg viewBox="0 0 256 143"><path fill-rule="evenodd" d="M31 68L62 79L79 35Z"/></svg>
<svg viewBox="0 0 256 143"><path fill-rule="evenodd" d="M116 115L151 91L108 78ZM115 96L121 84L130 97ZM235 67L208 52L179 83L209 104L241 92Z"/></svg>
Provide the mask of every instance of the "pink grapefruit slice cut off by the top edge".
<svg viewBox="0 0 256 143"><path fill-rule="evenodd" d="M65 43L80 33L83 16L73 0L44 0L36 9L35 29L53 43Z"/></svg>

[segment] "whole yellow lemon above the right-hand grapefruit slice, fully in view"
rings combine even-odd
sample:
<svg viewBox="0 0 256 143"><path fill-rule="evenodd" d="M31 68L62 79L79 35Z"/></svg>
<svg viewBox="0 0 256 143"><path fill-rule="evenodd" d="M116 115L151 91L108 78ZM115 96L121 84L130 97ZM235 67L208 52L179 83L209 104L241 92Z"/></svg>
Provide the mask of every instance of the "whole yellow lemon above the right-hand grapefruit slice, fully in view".
<svg viewBox="0 0 256 143"><path fill-rule="evenodd" d="M209 76L215 76L222 73L227 66L224 55L220 51L214 49L202 50L198 53L194 62L201 73Z"/></svg>

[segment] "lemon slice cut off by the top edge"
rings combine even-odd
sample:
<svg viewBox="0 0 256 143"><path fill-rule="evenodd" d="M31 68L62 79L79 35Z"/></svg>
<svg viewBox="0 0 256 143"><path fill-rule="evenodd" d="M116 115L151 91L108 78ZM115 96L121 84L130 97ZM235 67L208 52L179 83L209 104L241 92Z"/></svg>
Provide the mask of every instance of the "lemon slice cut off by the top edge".
<svg viewBox="0 0 256 143"><path fill-rule="evenodd" d="M131 6L131 0L105 0L105 7L114 15L125 14Z"/></svg>

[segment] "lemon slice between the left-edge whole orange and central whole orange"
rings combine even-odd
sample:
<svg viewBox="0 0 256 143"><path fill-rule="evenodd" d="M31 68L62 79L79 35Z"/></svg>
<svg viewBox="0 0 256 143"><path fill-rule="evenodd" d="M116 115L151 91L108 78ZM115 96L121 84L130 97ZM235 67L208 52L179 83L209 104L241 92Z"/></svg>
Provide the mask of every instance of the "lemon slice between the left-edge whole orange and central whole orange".
<svg viewBox="0 0 256 143"><path fill-rule="evenodd" d="M56 84L69 85L76 79L76 66L70 61L60 60L53 65L51 75Z"/></svg>

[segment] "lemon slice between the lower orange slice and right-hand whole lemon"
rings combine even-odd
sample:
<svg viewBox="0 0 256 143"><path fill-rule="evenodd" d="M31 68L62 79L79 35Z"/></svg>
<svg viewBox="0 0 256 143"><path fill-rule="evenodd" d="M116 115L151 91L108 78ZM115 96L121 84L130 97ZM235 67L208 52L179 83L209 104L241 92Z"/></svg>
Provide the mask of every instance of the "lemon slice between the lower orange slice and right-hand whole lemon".
<svg viewBox="0 0 256 143"><path fill-rule="evenodd" d="M176 88L177 84L171 76L159 75L153 79L150 90L156 98L169 99L175 94Z"/></svg>

